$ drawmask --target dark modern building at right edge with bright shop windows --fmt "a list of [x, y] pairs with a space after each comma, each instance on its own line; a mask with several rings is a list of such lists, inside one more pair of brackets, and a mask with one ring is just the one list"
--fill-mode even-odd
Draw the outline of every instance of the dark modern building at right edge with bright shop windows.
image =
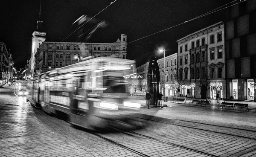
[[229, 7], [227, 18], [227, 98], [256, 102], [256, 1]]

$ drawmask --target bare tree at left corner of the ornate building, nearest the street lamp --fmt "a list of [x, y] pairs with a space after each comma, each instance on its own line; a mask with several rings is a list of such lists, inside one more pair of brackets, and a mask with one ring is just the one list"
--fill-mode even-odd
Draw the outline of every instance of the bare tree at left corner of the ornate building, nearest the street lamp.
[[[178, 98], [177, 91], [180, 89], [181, 85], [184, 83], [184, 75], [183, 70], [180, 70], [180, 73], [178, 73], [178, 70], [176, 67], [171, 67], [169, 70], [166, 70], [168, 73], [168, 82], [171, 83], [171, 87], [176, 90], [176, 98]], [[179, 76], [178, 76], [179, 75]]]

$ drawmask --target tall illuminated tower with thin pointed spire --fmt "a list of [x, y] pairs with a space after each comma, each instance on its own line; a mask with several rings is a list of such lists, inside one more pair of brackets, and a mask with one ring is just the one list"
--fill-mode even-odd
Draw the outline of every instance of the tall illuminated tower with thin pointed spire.
[[32, 51], [30, 58], [30, 72], [31, 76], [35, 75], [35, 53], [37, 49], [40, 47], [42, 42], [45, 41], [46, 32], [43, 32], [43, 21], [41, 20], [41, 0], [40, 0], [40, 11], [39, 11], [39, 19], [37, 21], [36, 31], [33, 32], [32, 37]]

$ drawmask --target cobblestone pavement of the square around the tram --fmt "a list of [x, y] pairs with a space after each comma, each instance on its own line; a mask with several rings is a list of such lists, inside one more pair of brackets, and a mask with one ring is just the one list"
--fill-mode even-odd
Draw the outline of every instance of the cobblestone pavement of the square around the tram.
[[[14, 95], [13, 87], [0, 89], [1, 157], [140, 156], [33, 108]], [[164, 102], [164, 108], [147, 109], [142, 97], [134, 99], [143, 105], [140, 113], [154, 116], [135, 132], [174, 145], [131, 133], [102, 136], [152, 157], [208, 156], [177, 145], [221, 157], [256, 156], [255, 110], [218, 109], [214, 101], [210, 107]]]

